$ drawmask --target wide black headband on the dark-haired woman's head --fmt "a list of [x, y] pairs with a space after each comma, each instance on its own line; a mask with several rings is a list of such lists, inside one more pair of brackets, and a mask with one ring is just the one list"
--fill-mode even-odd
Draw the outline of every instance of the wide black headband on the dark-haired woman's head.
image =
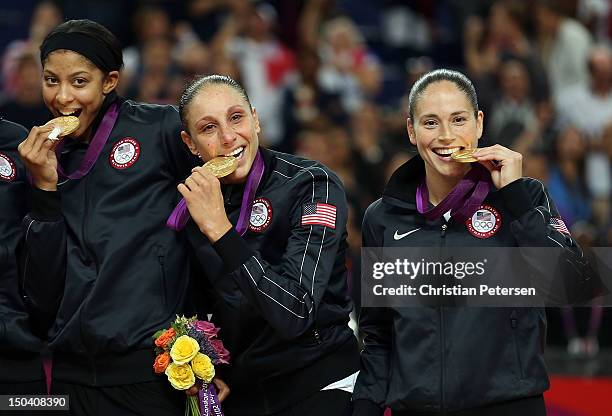
[[121, 61], [111, 53], [108, 45], [100, 39], [83, 33], [56, 33], [44, 40], [40, 45], [40, 61], [58, 49], [68, 49], [89, 59], [103, 72], [119, 71]]

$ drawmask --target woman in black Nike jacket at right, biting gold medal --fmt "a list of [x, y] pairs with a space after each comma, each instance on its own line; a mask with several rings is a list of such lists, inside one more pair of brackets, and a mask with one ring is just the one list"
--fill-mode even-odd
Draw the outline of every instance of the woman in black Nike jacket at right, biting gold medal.
[[[476, 253], [554, 247], [564, 282], [579, 287], [590, 280], [593, 271], [561, 227], [545, 187], [522, 177], [521, 155], [500, 145], [477, 148], [484, 114], [465, 75], [446, 69], [423, 75], [410, 91], [408, 112], [418, 155], [393, 173], [366, 211], [363, 247], [401, 248], [406, 255], [422, 247]], [[509, 259], [489, 258], [487, 271], [511, 270]], [[537, 260], [524, 260], [537, 268]], [[393, 416], [544, 416], [544, 325], [544, 310], [535, 307], [363, 305], [353, 415], [379, 416], [390, 407]]]

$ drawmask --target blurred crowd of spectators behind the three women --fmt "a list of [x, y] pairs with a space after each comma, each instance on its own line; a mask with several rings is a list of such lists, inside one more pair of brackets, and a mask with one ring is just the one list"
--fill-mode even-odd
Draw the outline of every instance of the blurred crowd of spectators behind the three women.
[[[0, 5], [0, 114], [27, 128], [49, 118], [38, 47], [67, 19], [95, 20], [120, 39], [126, 98], [177, 103], [196, 74], [239, 80], [265, 146], [319, 160], [343, 180], [357, 302], [362, 214], [415, 154], [407, 94], [438, 67], [473, 80], [485, 113], [480, 146], [521, 152], [524, 175], [546, 183], [580, 243], [612, 245], [609, 0], [10, 3]], [[549, 310], [549, 342], [595, 356], [612, 345], [609, 315]]]

